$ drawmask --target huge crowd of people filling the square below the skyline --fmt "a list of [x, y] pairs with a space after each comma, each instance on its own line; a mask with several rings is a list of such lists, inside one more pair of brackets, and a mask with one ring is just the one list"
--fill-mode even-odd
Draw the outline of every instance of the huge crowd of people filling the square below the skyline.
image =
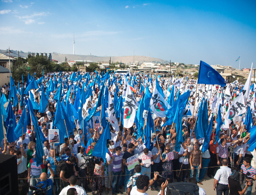
[[[12, 104], [16, 124], [19, 124], [24, 112], [30, 112], [26, 99], [33, 99], [34, 103], [41, 106], [42, 93], [44, 95], [46, 93], [49, 98], [44, 113], [40, 113], [38, 108], [33, 107], [32, 111], [36, 116], [37, 124], [34, 124], [32, 119], [27, 120], [27, 128], [23, 129], [23, 135], [11, 142], [5, 136], [1, 142], [3, 155], [16, 155], [17, 157], [20, 194], [28, 192], [31, 195], [36, 189], [28, 188], [28, 186], [38, 186], [38, 184], [42, 184], [42, 188], [47, 189], [47, 194], [56, 195], [87, 194], [88, 192], [102, 194], [103, 191], [105, 194], [112, 192], [112, 194], [134, 195], [147, 194], [148, 189], [154, 191], [155, 194], [165, 194], [167, 184], [173, 182], [197, 183], [200, 186], [199, 194], [206, 194], [205, 190], [201, 188], [206, 176], [215, 179], [213, 185], [217, 195], [222, 193], [226, 195], [229, 190], [230, 194], [237, 194], [239, 191], [239, 194], [246, 192], [249, 195], [252, 191], [252, 180], [256, 179], [256, 170], [251, 166], [251, 162], [255, 158], [247, 150], [251, 138], [248, 126], [245, 125], [247, 111], [242, 116], [229, 118], [230, 120], [224, 117], [225, 113], [229, 111], [232, 101], [238, 98], [240, 93], [243, 93], [244, 85], [235, 82], [221, 89], [218, 85], [209, 87], [209, 85], [197, 84], [196, 79], [158, 78], [156, 76], [150, 78], [141, 73], [120, 76], [113, 73], [100, 75], [98, 72], [82, 72], [76, 73], [75, 77], [73, 75], [74, 73], [48, 73], [44, 75], [40, 83], [37, 83], [38, 87], [31, 89], [30, 92], [32, 92], [33, 97], [31, 94], [29, 96], [19, 94], [24, 92], [25, 86], [29, 87], [26, 82], [3, 86], [3, 90], [1, 90], [1, 101], [5, 103], [3, 101], [6, 98], [6, 102]], [[108, 76], [106, 79], [99, 79], [106, 75]], [[125, 84], [126, 78], [127, 84]], [[28, 77], [27, 82], [30, 83], [33, 79]], [[50, 81], [54, 83], [53, 91], [49, 91]], [[139, 104], [144, 101], [146, 91], [150, 95], [154, 94], [157, 84], [160, 84], [164, 99], [168, 104], [178, 101], [182, 94], [189, 91], [189, 98], [185, 105], [194, 106], [194, 109], [191, 115], [179, 116], [181, 117], [181, 134], [175, 122], [167, 123], [168, 116], [161, 117], [154, 113], [153, 109], [150, 110], [151, 113], [148, 115], [151, 115], [153, 124], [151, 124], [150, 138], [147, 139], [145, 137], [146, 120], [142, 128], [138, 126], [137, 118], [131, 127], [124, 127], [126, 126], [123, 122], [126, 117], [125, 110], [118, 111], [118, 106], [115, 104], [119, 98], [126, 101], [123, 99], [123, 93], [126, 91], [126, 87], [129, 88], [130, 85], [134, 102]], [[89, 95], [91, 110], [88, 114], [90, 115], [93, 108], [99, 105], [100, 92], [104, 85], [106, 86], [105, 90], [110, 95], [108, 102], [111, 99], [114, 103], [115, 117], [118, 121], [118, 128], [114, 128], [111, 124], [107, 126], [111, 138], [108, 139], [108, 152], [105, 156], [93, 156], [94, 148], [97, 144], [102, 144], [100, 138], [105, 131], [101, 118], [98, 121], [92, 118], [93, 122], [84, 124], [82, 121], [84, 118], [79, 120], [79, 117], [74, 117], [74, 113], [67, 113], [69, 122], [74, 123], [75, 128], [67, 129], [67, 134], [64, 132], [65, 139], [62, 143], [57, 132], [55, 132], [53, 139], [49, 139], [49, 129], [57, 128], [55, 119], [58, 103], [62, 102], [63, 106], [67, 104], [74, 106], [79, 114], [78, 105], [82, 98], [80, 94], [90, 91], [92, 93]], [[73, 90], [72, 86], [74, 86]], [[60, 87], [62, 87], [60, 96], [56, 99]], [[250, 107], [247, 110], [252, 112], [252, 119], [254, 119], [254, 86], [250, 85], [249, 87], [250, 91], [246, 97], [246, 103], [249, 102]], [[15, 97], [10, 93], [12, 88], [16, 88], [18, 92], [17, 104], [14, 104]], [[9, 89], [9, 92], [6, 89]], [[8, 95], [9, 93], [12, 96]], [[172, 97], [172, 93], [174, 93], [174, 97]], [[227, 99], [225, 94], [230, 94], [230, 98]], [[204, 98], [208, 100], [204, 100]], [[210, 133], [207, 136], [205, 132], [204, 136], [200, 137], [197, 123], [201, 112], [200, 104], [203, 101], [206, 101], [208, 107], [206, 120], [207, 127], [210, 127]], [[219, 104], [220, 108], [218, 109]], [[111, 110], [110, 106], [109, 103], [108, 110], [103, 110], [103, 112], [108, 114]], [[148, 108], [146, 109], [148, 110]], [[161, 107], [158, 106], [157, 109], [161, 110]], [[186, 106], [183, 110], [187, 112], [189, 109]], [[101, 117], [103, 115], [101, 106], [97, 107], [97, 111], [100, 111]], [[224, 121], [219, 130], [217, 115], [222, 117], [221, 121]], [[108, 115], [105, 116], [106, 119], [110, 120]], [[175, 118], [175, 116], [170, 118]], [[210, 123], [211, 118], [214, 123]], [[41, 137], [42, 143], [36, 139], [38, 133], [36, 132], [36, 125], [43, 135]], [[8, 131], [11, 131], [5, 122], [4, 126]], [[179, 135], [182, 137], [180, 138]], [[59, 140], [59, 144], [53, 144], [56, 140]], [[208, 140], [208, 145], [205, 146], [206, 140]], [[40, 143], [44, 153], [40, 157], [41, 162], [38, 162], [37, 147]], [[131, 169], [127, 159], [135, 155], [138, 162]], [[233, 182], [237, 180], [232, 177], [231, 168], [243, 173], [243, 181], [239, 185], [235, 185]]]

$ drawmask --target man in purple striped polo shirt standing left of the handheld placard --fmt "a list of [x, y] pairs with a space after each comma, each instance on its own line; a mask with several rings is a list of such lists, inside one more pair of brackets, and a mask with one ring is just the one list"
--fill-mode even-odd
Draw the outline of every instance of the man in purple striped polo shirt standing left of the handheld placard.
[[120, 146], [116, 147], [116, 153], [113, 155], [113, 183], [112, 183], [112, 194], [122, 193], [119, 191], [119, 180], [122, 175], [123, 163], [122, 158], [123, 154], [121, 153], [122, 148]]

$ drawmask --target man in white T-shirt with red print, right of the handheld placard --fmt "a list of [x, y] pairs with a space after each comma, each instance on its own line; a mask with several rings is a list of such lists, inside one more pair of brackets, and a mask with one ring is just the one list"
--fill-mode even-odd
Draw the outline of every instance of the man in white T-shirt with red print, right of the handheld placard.
[[150, 178], [151, 165], [154, 164], [152, 151], [148, 151], [147, 148], [144, 148], [143, 153], [139, 155], [139, 162], [141, 165], [141, 174], [145, 174]]

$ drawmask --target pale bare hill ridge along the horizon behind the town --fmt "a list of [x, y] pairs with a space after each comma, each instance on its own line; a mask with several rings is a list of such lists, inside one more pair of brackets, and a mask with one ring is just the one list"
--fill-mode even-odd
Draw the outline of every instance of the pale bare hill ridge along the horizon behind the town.
[[[7, 50], [0, 50], [1, 53], [6, 52]], [[18, 57], [18, 51], [13, 51], [14, 53], [11, 53], [11, 56]], [[36, 53], [36, 52], [34, 52]], [[38, 52], [39, 53], [39, 52]], [[9, 55], [9, 54], [5, 54]], [[19, 52], [19, 56], [27, 57], [28, 52]], [[59, 62], [65, 61], [65, 58], [67, 57], [67, 61], [73, 61], [73, 60], [91, 60], [95, 62], [109, 62], [110, 56], [101, 57], [101, 56], [94, 56], [94, 55], [72, 55], [72, 54], [58, 54], [53, 52], [52, 53], [52, 59], [58, 60]], [[133, 60], [134, 58], [134, 60]], [[155, 63], [168, 63], [168, 61], [160, 59], [160, 58], [154, 58], [154, 57], [147, 57], [147, 56], [111, 56], [111, 61], [113, 62], [120, 62], [122, 63], [130, 63], [130, 62], [155, 62]]]

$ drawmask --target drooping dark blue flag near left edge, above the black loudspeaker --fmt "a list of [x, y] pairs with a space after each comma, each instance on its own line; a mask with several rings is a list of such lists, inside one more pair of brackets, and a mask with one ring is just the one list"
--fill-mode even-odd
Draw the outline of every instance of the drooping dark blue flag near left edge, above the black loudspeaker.
[[[12, 110], [12, 104], [11, 101], [9, 101], [8, 106], [7, 106], [7, 118], [5, 120], [6, 126], [7, 126], [7, 140], [9, 143], [14, 142], [17, 137], [14, 134], [14, 129], [16, 127], [16, 120], [15, 120], [15, 115]], [[27, 129], [26, 129], [27, 130]]]

